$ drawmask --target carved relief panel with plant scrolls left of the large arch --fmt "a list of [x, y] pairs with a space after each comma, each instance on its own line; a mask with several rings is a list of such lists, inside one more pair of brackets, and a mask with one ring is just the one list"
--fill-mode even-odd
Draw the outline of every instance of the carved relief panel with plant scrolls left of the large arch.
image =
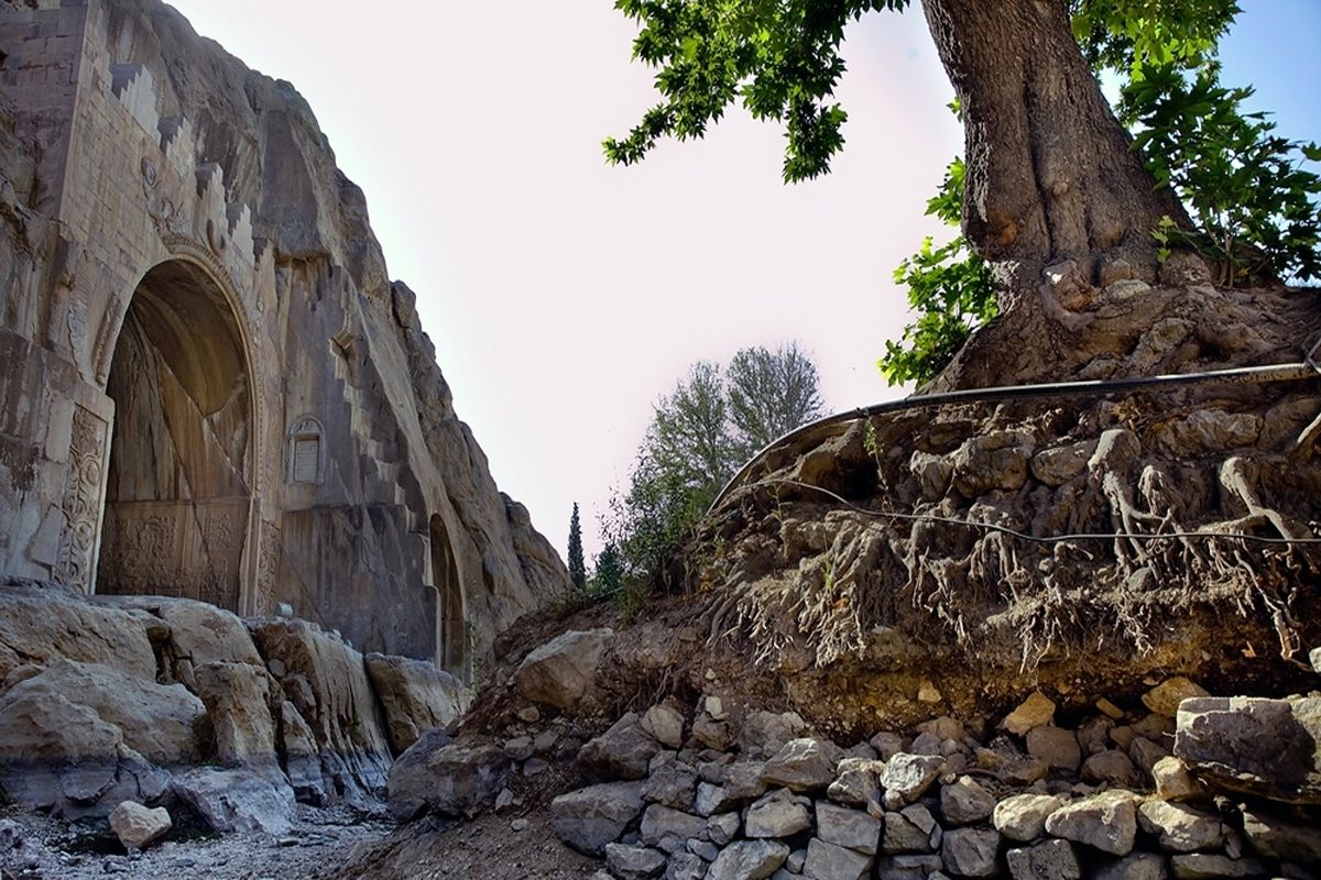
[[69, 472], [59, 505], [65, 528], [59, 537], [55, 581], [82, 592], [91, 592], [92, 587], [107, 429], [108, 425], [95, 413], [74, 406]]

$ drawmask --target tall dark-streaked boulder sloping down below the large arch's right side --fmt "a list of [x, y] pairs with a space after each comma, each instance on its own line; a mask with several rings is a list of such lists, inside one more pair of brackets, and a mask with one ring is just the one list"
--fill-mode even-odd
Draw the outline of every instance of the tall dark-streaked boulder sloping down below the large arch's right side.
[[362, 654], [304, 620], [250, 620], [284, 698], [306, 722], [333, 790], [349, 800], [386, 788], [391, 752]]

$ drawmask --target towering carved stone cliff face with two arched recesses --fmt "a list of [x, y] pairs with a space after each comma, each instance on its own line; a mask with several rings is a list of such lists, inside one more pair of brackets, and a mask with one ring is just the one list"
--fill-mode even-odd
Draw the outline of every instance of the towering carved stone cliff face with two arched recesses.
[[306, 103], [156, 0], [0, 0], [0, 574], [466, 670], [567, 582]]

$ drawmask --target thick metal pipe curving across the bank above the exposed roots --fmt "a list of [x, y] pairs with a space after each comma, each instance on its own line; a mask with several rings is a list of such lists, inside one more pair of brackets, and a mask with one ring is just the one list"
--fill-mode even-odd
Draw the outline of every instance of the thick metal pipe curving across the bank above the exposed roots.
[[966, 388], [962, 391], [947, 391], [938, 392], [934, 394], [915, 394], [911, 397], [905, 397], [902, 400], [890, 400], [882, 404], [872, 404], [871, 406], [860, 406], [857, 409], [845, 410], [843, 413], [835, 413], [834, 416], [827, 416], [826, 418], [819, 418], [814, 422], [808, 422], [794, 430], [789, 431], [783, 437], [771, 441], [760, 453], [753, 455], [748, 462], [738, 468], [724, 484], [720, 492], [716, 495], [716, 500], [711, 503], [707, 508], [707, 515], [709, 516], [725, 497], [744, 480], [748, 474], [757, 466], [757, 463], [773, 449], [786, 443], [802, 434], [808, 431], [819, 430], [822, 427], [830, 427], [838, 424], [859, 421], [863, 418], [871, 418], [873, 416], [882, 416], [889, 413], [900, 413], [909, 409], [919, 409], [923, 406], [945, 406], [950, 404], [976, 404], [1000, 400], [1021, 400], [1030, 397], [1107, 397], [1114, 393], [1127, 392], [1127, 391], [1148, 391], [1148, 389], [1164, 389], [1164, 388], [1178, 388], [1184, 385], [1203, 385], [1203, 384], [1234, 384], [1234, 385], [1256, 385], [1266, 383], [1284, 383], [1284, 381], [1305, 381], [1308, 379], [1317, 379], [1318, 368], [1313, 356], [1321, 348], [1321, 339], [1317, 344], [1312, 347], [1310, 351], [1305, 354], [1305, 359], [1299, 363], [1292, 364], [1267, 364], [1264, 367], [1236, 367], [1232, 369], [1214, 369], [1203, 373], [1174, 373], [1166, 376], [1143, 376], [1137, 379], [1098, 379], [1087, 381], [1066, 381], [1066, 383], [1041, 383], [1036, 385], [997, 385], [993, 388]]

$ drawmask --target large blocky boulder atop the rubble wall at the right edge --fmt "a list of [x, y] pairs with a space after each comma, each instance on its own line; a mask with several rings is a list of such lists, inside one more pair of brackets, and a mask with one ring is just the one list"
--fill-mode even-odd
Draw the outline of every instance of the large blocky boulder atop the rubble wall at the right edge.
[[1203, 697], [1180, 705], [1174, 755], [1203, 781], [1321, 803], [1321, 697]]

